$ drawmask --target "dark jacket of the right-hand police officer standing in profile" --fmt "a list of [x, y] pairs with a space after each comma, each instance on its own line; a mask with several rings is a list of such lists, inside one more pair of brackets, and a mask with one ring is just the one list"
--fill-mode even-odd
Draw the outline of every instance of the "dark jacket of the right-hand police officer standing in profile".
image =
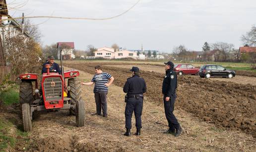
[[172, 69], [166, 71], [166, 76], [163, 80], [162, 93], [166, 97], [171, 97], [176, 94], [177, 74]]

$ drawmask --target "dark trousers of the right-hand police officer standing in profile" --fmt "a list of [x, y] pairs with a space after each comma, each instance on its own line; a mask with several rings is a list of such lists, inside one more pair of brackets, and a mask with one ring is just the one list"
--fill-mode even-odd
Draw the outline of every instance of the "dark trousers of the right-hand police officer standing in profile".
[[180, 124], [173, 114], [176, 96], [170, 97], [169, 101], [166, 101], [165, 98], [166, 96], [164, 95], [164, 111], [168, 121], [168, 126], [173, 131], [175, 131], [175, 129], [178, 130], [180, 128]]

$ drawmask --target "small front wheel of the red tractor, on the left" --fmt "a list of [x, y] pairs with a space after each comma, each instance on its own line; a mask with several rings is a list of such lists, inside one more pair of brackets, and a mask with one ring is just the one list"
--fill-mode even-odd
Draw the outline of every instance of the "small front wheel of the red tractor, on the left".
[[22, 104], [22, 121], [25, 132], [32, 131], [32, 121], [30, 117], [30, 105], [29, 103]]

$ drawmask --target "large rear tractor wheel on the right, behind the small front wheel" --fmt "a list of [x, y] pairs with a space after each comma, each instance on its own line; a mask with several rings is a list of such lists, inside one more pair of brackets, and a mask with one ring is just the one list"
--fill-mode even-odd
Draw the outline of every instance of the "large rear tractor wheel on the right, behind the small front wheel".
[[[68, 97], [72, 98], [75, 101], [82, 100], [81, 97], [81, 84], [78, 78], [70, 78], [67, 80], [67, 85], [70, 86], [71, 90], [68, 92]], [[70, 115], [75, 115], [75, 109], [69, 109]]]

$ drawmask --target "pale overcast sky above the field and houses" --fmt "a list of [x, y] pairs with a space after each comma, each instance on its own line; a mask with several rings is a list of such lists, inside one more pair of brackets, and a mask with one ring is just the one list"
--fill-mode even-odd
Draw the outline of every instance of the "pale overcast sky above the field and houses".
[[[12, 16], [104, 18], [128, 10], [137, 0], [6, 0]], [[241, 36], [256, 25], [256, 0], [140, 0], [126, 14], [110, 20], [32, 18], [42, 44], [74, 42], [75, 49], [119, 47], [171, 52], [179, 45], [201, 51], [204, 42], [243, 46]], [[46, 21], [46, 22], [45, 22]], [[41, 24], [42, 23], [42, 24]]]

